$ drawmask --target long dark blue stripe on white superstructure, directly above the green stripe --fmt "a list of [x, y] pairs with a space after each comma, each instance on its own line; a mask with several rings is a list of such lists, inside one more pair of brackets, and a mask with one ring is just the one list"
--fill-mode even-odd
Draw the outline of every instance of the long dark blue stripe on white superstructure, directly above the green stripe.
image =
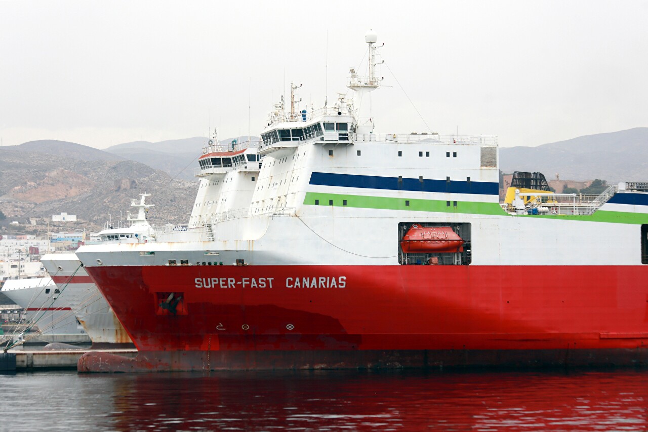
[[465, 180], [428, 180], [418, 178], [362, 176], [356, 174], [312, 173], [310, 184], [319, 186], [362, 187], [364, 189], [384, 189], [389, 191], [421, 191], [472, 193], [475, 195], [498, 195], [499, 185], [494, 182], [467, 182]]

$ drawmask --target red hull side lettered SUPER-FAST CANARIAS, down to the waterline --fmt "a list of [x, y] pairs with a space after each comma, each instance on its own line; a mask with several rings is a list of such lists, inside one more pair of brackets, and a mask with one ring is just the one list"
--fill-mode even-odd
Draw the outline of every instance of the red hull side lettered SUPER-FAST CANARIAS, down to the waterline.
[[144, 369], [636, 364], [648, 344], [646, 266], [86, 270]]

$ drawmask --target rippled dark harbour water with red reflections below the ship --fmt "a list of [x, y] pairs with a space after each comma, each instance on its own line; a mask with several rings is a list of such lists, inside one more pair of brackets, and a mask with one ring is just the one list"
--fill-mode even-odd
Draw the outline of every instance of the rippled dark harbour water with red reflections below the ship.
[[0, 375], [3, 431], [646, 431], [648, 371]]

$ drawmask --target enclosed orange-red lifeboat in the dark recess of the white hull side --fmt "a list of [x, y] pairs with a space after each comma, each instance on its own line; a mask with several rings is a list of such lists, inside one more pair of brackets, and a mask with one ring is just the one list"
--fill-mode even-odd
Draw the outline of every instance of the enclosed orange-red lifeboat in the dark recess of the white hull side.
[[411, 252], [463, 252], [463, 240], [449, 226], [413, 224], [400, 241], [406, 254]]

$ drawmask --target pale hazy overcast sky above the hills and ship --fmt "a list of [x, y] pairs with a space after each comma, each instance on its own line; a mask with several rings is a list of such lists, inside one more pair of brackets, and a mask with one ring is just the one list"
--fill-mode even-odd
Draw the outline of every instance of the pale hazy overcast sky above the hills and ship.
[[[647, 1], [0, 1], [0, 137], [258, 135], [284, 73], [323, 105], [327, 32], [347, 91], [371, 28], [433, 132], [539, 145], [648, 126], [647, 26]], [[389, 69], [376, 132], [426, 130]]]

